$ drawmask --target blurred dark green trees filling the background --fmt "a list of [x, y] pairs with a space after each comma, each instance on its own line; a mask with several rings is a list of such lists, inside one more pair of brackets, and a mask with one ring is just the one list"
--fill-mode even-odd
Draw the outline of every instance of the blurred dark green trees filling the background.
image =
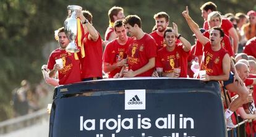
[[[42, 76], [40, 67], [46, 64], [43, 48], [54, 41], [54, 30], [62, 27], [67, 17], [66, 7], [80, 5], [93, 14], [93, 25], [104, 38], [108, 27], [108, 10], [112, 6], [124, 7], [126, 15], [137, 14], [142, 19], [143, 30], [150, 33], [155, 25], [153, 15], [165, 11], [176, 22], [179, 32], [192, 42], [192, 32], [183, 19], [181, 12], [189, 6], [190, 15], [202, 27], [203, 19], [199, 7], [207, 1], [189, 0], [99, 0], [99, 1], [36, 1], [1, 0], [0, 1], [0, 121], [10, 118], [12, 109], [12, 89], [17, 88], [23, 79], [38, 83]], [[228, 12], [247, 12], [256, 9], [256, 0], [213, 1], [222, 14]], [[171, 23], [170, 23], [171, 24]]]

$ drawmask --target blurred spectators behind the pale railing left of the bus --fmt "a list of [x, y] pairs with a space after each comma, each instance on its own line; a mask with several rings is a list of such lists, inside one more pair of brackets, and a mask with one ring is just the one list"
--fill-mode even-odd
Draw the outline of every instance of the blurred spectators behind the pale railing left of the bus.
[[12, 91], [13, 117], [45, 109], [53, 100], [52, 91], [53, 87], [47, 85], [44, 80], [37, 85], [31, 85], [28, 80], [22, 80], [20, 88], [15, 88]]

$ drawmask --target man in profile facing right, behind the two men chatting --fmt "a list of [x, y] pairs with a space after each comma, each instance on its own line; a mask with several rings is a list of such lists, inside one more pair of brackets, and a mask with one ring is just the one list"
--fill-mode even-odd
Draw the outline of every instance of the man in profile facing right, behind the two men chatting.
[[105, 32], [105, 41], [111, 41], [117, 38], [117, 35], [114, 32], [114, 22], [116, 22], [116, 20], [124, 19], [125, 17], [124, 9], [122, 9], [122, 7], [116, 7], [116, 6], [111, 7], [111, 9], [108, 10], [108, 17], [109, 17], [109, 27]]

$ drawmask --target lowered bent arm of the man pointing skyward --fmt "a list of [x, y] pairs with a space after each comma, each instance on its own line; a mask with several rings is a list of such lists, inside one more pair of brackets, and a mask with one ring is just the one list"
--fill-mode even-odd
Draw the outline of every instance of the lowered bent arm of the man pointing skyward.
[[230, 57], [228, 54], [226, 54], [223, 57], [222, 70], [223, 70], [223, 75], [209, 76], [209, 80], [216, 80], [216, 81], [228, 80], [229, 72], [230, 72]]

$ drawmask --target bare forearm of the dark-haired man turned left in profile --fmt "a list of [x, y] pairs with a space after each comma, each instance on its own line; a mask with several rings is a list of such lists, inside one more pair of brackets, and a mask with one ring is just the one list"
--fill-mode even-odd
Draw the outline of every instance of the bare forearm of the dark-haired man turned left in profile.
[[147, 72], [153, 67], [155, 67], [155, 57], [149, 59], [148, 63], [144, 65], [142, 68], [139, 68], [138, 70], [129, 70], [128, 72], [124, 71], [124, 77], [135, 77], [143, 72]]

